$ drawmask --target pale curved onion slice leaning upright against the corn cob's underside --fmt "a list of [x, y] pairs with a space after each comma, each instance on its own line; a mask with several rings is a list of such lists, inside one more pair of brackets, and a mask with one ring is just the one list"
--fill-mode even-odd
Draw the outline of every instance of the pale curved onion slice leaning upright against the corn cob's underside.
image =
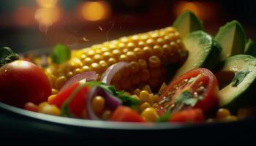
[[116, 72], [118, 72], [120, 69], [123, 69], [128, 64], [128, 62], [121, 61], [109, 66], [108, 69], [102, 74], [100, 81], [110, 85], [110, 82], [116, 74]]

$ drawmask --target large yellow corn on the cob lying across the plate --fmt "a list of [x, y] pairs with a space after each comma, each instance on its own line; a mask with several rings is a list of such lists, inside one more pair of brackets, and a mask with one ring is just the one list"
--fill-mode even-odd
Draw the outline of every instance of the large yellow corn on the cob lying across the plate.
[[180, 34], [175, 28], [167, 27], [72, 50], [71, 57], [64, 64], [51, 64], [46, 69], [53, 89], [59, 90], [70, 77], [81, 72], [95, 71], [100, 78], [108, 66], [118, 61], [129, 62], [111, 82], [118, 90], [146, 84], [154, 88], [165, 80], [165, 65], [184, 61], [187, 52]]

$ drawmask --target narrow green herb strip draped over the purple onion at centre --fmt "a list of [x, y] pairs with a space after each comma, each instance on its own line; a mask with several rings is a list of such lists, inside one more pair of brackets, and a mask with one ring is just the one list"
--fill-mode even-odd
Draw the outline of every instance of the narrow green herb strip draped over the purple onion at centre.
[[124, 91], [116, 91], [116, 88], [113, 85], [107, 85], [104, 82], [86, 82], [86, 85], [89, 86], [99, 86], [103, 88], [105, 91], [112, 93], [114, 96], [118, 97], [123, 101], [123, 105], [135, 108], [138, 106], [140, 101], [138, 99], [133, 98], [132, 96], [127, 96], [124, 94]]

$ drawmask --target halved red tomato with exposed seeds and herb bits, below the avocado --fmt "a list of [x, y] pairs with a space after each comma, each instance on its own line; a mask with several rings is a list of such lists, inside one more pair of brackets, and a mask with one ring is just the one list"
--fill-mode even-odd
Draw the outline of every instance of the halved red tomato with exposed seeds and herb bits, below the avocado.
[[156, 110], [178, 112], [199, 108], [206, 112], [217, 105], [219, 86], [217, 78], [208, 69], [193, 69], [170, 82], [159, 97]]

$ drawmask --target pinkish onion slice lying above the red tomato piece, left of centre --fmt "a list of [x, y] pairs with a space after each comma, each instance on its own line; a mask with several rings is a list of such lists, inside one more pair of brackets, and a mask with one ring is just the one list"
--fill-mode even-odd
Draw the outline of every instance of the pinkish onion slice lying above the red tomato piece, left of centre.
[[71, 77], [67, 82], [65, 82], [59, 91], [63, 91], [65, 88], [73, 85], [75, 82], [79, 82], [80, 80], [86, 80], [86, 82], [89, 82], [96, 79], [96, 72], [83, 72], [81, 74], [76, 74], [74, 77]]

